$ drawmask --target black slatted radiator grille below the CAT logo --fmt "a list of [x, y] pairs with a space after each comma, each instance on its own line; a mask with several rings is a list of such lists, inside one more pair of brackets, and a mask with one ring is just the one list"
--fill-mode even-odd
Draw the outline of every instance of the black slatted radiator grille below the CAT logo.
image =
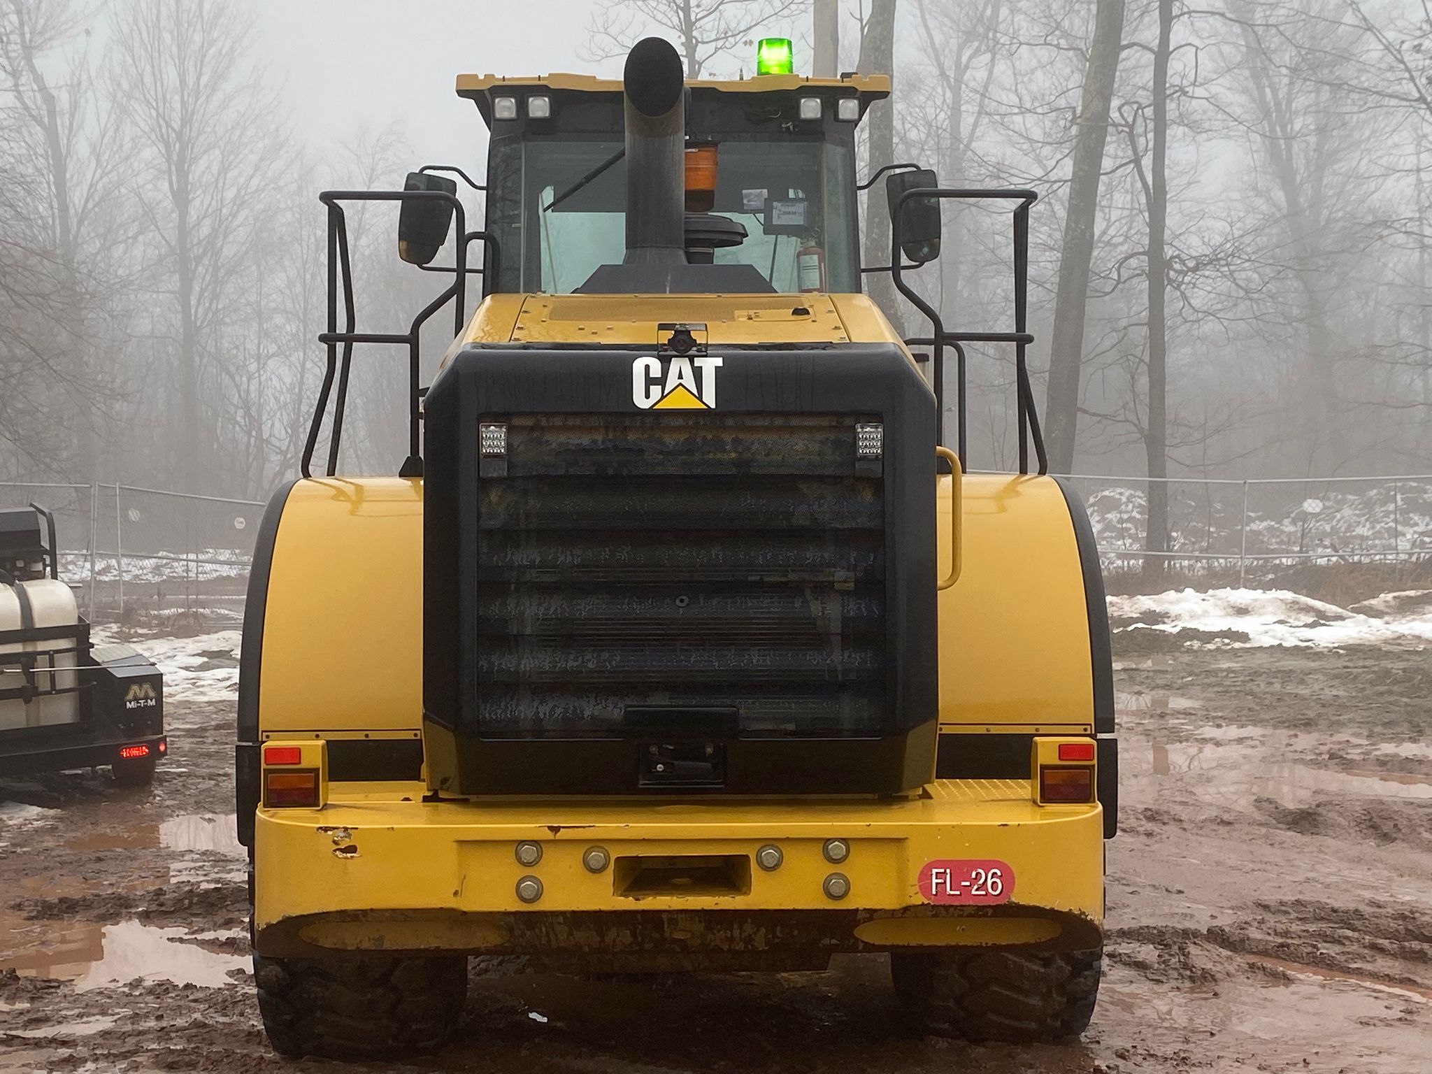
[[[484, 415], [478, 719], [610, 735], [633, 706], [879, 733], [885, 505], [859, 415]], [[475, 437], [475, 430], [474, 430]]]

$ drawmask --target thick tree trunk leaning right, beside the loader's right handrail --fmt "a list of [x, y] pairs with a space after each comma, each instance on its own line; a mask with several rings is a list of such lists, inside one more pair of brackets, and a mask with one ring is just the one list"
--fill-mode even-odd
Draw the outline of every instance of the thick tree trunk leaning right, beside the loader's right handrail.
[[1054, 473], [1068, 473], [1074, 467], [1080, 367], [1084, 362], [1084, 314], [1088, 305], [1090, 263], [1094, 258], [1098, 182], [1104, 166], [1108, 107], [1114, 97], [1114, 76], [1118, 73], [1123, 36], [1124, 0], [1098, 0], [1088, 67], [1084, 72], [1078, 130], [1074, 135], [1074, 163], [1068, 209], [1064, 216], [1064, 243], [1060, 251], [1054, 331], [1050, 341], [1044, 441]]

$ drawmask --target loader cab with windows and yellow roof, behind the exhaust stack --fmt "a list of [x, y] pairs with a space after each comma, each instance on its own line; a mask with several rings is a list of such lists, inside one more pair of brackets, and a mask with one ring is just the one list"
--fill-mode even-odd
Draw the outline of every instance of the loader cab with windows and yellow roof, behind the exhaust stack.
[[[604, 289], [593, 274], [624, 249], [621, 86], [571, 74], [458, 79], [491, 132], [487, 232], [501, 259], [488, 294]], [[861, 76], [689, 82], [689, 261], [750, 266], [740, 276], [749, 291], [858, 292], [855, 130], [888, 87]]]

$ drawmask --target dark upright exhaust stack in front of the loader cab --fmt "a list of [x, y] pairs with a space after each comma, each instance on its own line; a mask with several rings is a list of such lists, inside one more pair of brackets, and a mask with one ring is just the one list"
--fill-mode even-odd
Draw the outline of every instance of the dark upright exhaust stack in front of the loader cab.
[[644, 37], [623, 77], [626, 265], [686, 263], [686, 80], [669, 42]]

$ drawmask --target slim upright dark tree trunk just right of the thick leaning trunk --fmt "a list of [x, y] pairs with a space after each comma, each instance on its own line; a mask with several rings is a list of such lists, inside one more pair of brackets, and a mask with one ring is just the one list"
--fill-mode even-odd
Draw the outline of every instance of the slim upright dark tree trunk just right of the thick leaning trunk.
[[[1154, 49], [1153, 152], [1148, 166], [1148, 530], [1144, 548], [1169, 551], [1169, 268], [1164, 238], [1169, 223], [1169, 49], [1173, 34], [1173, 0], [1158, 0], [1158, 46]], [[1163, 574], [1167, 558], [1144, 557], [1144, 574]]]

